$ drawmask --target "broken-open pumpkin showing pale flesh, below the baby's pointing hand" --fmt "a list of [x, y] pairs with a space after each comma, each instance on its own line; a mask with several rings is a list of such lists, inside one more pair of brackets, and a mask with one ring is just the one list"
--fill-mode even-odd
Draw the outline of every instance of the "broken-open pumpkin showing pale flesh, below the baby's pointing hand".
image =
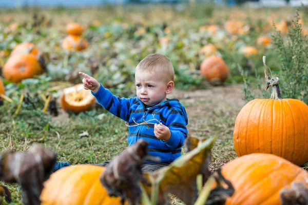
[[63, 90], [60, 105], [63, 110], [78, 114], [88, 111], [95, 103], [95, 97], [90, 90], [85, 90], [83, 84], [78, 84]]

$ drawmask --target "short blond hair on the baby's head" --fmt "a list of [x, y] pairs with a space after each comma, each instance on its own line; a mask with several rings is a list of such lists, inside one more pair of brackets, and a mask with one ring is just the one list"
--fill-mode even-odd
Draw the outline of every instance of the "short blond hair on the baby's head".
[[165, 74], [167, 81], [173, 81], [175, 78], [175, 70], [171, 60], [159, 53], [150, 54], [143, 58], [137, 65], [137, 69], [162, 72]]

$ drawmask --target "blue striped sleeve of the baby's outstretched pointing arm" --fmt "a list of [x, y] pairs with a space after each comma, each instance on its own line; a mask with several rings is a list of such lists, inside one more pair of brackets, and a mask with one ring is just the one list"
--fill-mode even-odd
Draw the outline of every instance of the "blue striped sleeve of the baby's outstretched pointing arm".
[[93, 93], [98, 103], [103, 106], [107, 111], [121, 119], [128, 121], [130, 115], [130, 105], [136, 100], [135, 98], [120, 98], [113, 95], [108, 89], [104, 88], [101, 84], [98, 92]]

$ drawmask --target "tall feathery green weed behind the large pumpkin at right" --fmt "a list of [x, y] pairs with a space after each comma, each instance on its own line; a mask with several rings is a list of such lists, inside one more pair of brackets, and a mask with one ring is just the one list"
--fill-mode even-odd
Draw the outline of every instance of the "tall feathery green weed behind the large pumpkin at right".
[[301, 33], [298, 10], [295, 18], [292, 21], [294, 26], [290, 27], [286, 37], [279, 31], [272, 36], [282, 63], [278, 76], [279, 85], [283, 98], [296, 98], [308, 104], [308, 42]]

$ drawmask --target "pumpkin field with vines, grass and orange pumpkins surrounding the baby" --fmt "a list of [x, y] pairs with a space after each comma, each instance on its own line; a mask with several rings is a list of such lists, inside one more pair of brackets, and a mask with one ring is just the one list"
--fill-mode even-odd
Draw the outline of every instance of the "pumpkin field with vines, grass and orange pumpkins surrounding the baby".
[[[308, 204], [307, 34], [305, 6], [0, 8], [0, 204]], [[128, 147], [79, 72], [134, 97], [152, 53], [174, 66], [188, 137], [141, 173], [147, 142]]]

